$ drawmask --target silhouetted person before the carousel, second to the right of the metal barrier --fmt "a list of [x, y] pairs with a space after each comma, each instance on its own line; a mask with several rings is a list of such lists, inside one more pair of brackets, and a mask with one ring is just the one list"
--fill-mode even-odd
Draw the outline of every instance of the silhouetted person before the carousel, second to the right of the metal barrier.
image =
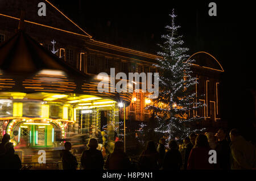
[[97, 150], [98, 141], [90, 138], [88, 150], [82, 152], [81, 164], [84, 170], [103, 170], [104, 159], [100, 150]]

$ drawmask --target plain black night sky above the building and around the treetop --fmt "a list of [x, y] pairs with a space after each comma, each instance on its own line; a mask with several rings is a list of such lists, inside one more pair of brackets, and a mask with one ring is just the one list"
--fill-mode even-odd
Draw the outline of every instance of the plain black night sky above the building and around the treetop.
[[[51, 2], [94, 39], [154, 54], [158, 51], [156, 44], [162, 42], [164, 27], [171, 23], [168, 14], [174, 8], [189, 54], [208, 52], [225, 70], [222, 117], [230, 127], [242, 127], [243, 132], [251, 128], [249, 120], [255, 116], [250, 93], [255, 90], [255, 15], [250, 1]], [[209, 2], [217, 3], [217, 16], [208, 15]]]

